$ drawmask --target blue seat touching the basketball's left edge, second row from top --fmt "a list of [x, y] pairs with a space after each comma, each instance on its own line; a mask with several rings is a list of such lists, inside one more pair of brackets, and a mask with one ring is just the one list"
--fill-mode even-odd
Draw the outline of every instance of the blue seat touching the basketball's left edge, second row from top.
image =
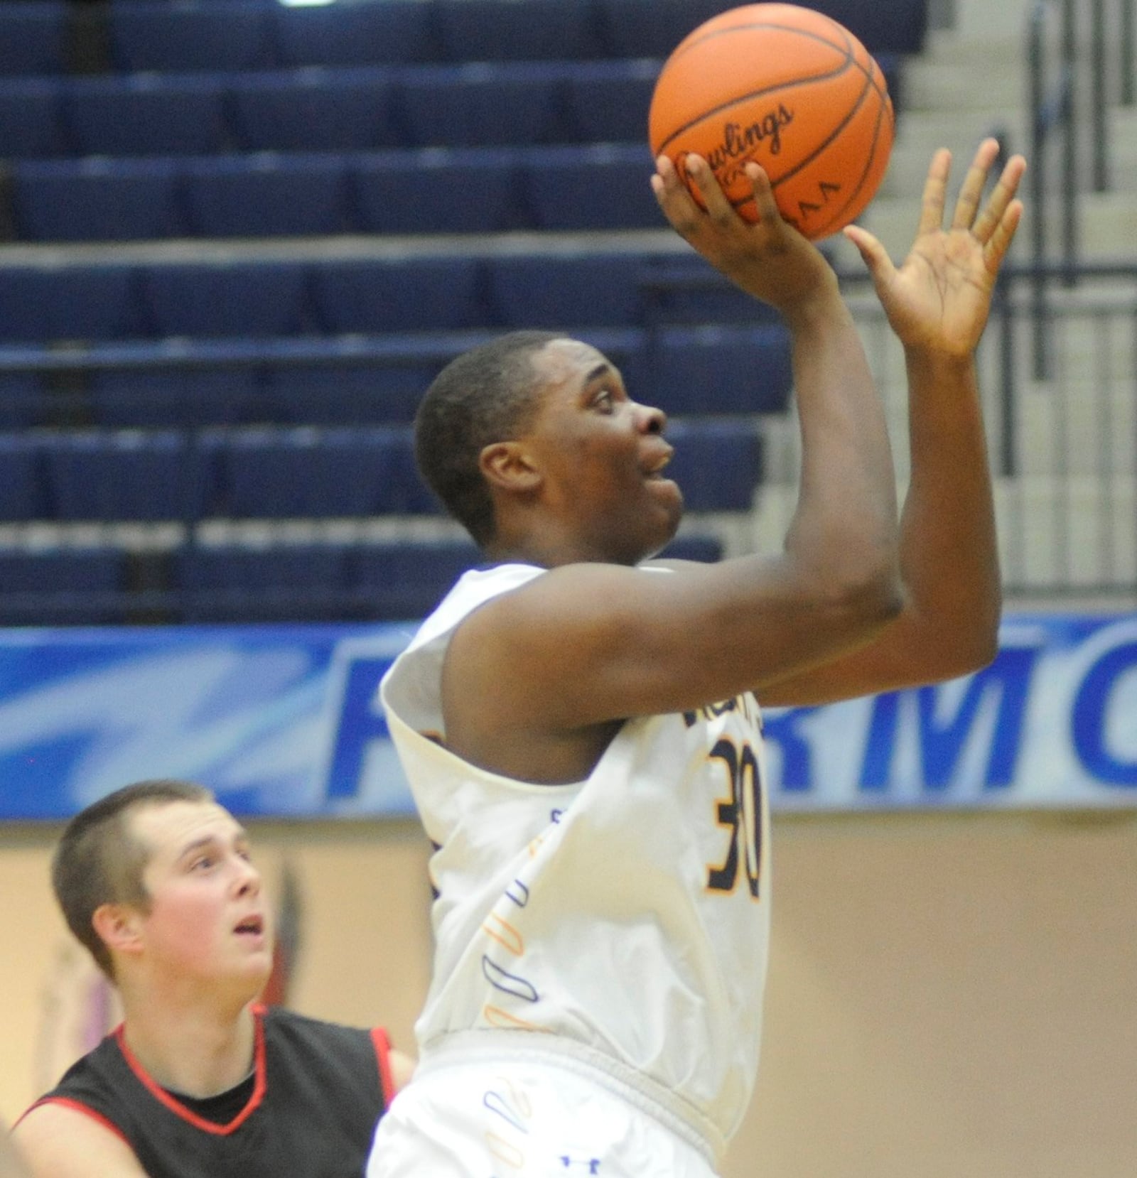
[[567, 120], [580, 143], [647, 140], [648, 107], [661, 62], [581, 61], [567, 78]]

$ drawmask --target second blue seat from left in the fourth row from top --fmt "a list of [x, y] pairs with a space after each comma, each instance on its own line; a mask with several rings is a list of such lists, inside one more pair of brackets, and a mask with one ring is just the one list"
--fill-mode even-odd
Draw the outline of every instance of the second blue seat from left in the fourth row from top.
[[141, 267], [158, 336], [293, 336], [310, 330], [300, 262], [172, 263]]

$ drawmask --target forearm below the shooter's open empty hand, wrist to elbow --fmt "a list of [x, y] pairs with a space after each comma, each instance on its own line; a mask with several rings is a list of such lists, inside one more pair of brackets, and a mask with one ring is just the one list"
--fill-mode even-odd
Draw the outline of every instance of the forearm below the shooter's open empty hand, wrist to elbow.
[[938, 677], [990, 662], [1002, 588], [973, 358], [907, 356], [912, 476], [901, 517], [908, 608]]

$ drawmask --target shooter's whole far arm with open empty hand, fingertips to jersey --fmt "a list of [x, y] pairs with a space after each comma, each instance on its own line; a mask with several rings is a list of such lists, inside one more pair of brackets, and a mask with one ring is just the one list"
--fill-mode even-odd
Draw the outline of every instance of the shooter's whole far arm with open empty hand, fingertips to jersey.
[[905, 349], [912, 476], [900, 535], [904, 609], [864, 649], [768, 684], [763, 702], [824, 703], [937, 682], [977, 670], [998, 649], [1002, 589], [976, 348], [1022, 214], [1013, 198], [1025, 163], [1011, 159], [980, 207], [997, 147], [980, 145], [943, 229], [950, 157], [936, 154], [915, 244], [899, 270], [875, 238], [848, 231]]

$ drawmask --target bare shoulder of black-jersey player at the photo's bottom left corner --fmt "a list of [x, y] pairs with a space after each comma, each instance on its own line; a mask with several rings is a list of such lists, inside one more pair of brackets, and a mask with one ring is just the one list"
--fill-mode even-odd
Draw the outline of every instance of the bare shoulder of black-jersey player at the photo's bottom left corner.
[[107, 1123], [53, 1100], [25, 1113], [12, 1139], [33, 1178], [146, 1178]]

